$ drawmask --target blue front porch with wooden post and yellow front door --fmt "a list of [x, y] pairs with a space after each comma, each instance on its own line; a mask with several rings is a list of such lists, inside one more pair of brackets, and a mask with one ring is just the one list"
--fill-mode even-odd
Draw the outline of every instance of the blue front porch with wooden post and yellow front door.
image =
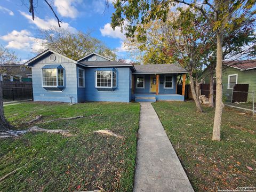
[[[138, 102], [184, 101], [185, 81], [184, 73], [133, 74], [132, 100]], [[177, 94], [178, 84], [182, 84], [182, 94]]]

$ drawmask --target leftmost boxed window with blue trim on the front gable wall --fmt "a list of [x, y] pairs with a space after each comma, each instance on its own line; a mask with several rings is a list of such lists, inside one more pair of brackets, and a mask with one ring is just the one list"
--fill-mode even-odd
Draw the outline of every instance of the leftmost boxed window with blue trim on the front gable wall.
[[49, 91], [61, 91], [65, 85], [64, 68], [59, 65], [45, 65], [42, 68], [43, 87]]

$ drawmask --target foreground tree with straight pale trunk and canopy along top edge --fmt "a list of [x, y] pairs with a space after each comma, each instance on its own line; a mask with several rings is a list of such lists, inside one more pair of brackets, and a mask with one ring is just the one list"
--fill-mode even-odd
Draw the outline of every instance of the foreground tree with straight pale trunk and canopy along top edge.
[[[116, 9], [111, 18], [111, 26], [124, 27], [126, 36], [132, 37], [136, 30], [145, 33], [143, 24], [151, 20], [166, 21], [167, 13], [171, 7], [177, 4], [185, 4], [193, 7], [205, 17], [209, 26], [216, 33], [216, 68], [215, 74], [217, 79], [216, 89], [216, 107], [213, 125], [212, 140], [220, 141], [220, 126], [222, 109], [222, 60], [223, 60], [223, 35], [228, 30], [232, 29], [236, 23], [242, 22], [246, 18], [254, 17], [255, 1], [247, 0], [214, 0], [214, 1], [196, 1], [196, 0], [141, 0], [141, 1], [126, 1], [117, 0], [114, 2]], [[124, 26], [125, 24], [125, 26]], [[142, 27], [141, 27], [142, 24]]]

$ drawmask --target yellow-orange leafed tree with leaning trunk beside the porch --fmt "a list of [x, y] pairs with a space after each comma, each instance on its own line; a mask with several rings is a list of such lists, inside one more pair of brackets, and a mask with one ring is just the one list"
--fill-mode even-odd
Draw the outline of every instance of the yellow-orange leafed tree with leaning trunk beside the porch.
[[143, 27], [146, 33], [142, 35], [135, 31], [134, 37], [127, 38], [125, 45], [133, 53], [141, 53], [138, 59], [144, 64], [177, 63], [187, 69], [196, 109], [202, 112], [199, 84], [203, 83], [201, 74], [209, 63], [207, 59], [214, 39], [205, 18], [193, 9], [179, 9], [169, 12], [165, 22], [150, 21]]

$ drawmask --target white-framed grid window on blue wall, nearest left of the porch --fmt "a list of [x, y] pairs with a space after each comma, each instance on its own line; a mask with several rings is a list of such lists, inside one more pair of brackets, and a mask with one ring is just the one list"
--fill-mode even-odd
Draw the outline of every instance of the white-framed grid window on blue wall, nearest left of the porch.
[[112, 88], [116, 87], [116, 71], [96, 71], [96, 87]]

